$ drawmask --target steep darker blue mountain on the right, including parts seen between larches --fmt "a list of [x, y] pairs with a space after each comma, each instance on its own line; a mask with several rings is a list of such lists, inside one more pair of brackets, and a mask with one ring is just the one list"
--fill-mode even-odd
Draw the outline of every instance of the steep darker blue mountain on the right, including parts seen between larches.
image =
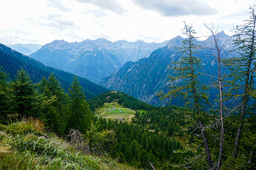
[[[219, 33], [216, 36], [224, 36], [224, 32]], [[226, 38], [230, 39], [228, 35]], [[199, 44], [205, 44], [209, 42], [211, 37], [205, 41], [197, 41]], [[137, 62], [127, 62], [122, 68], [115, 71], [113, 74], [102, 79], [98, 84], [109, 88], [110, 90], [122, 91], [129, 94], [139, 100], [145, 101], [149, 104], [156, 106], [168, 105], [168, 100], [160, 101], [156, 92], [163, 90], [168, 91], [168, 86], [171, 82], [168, 82], [167, 76], [172, 75], [171, 69], [168, 69], [168, 65], [171, 61], [177, 61], [181, 57], [178, 49], [182, 45], [184, 39], [181, 36], [177, 36], [166, 43], [166, 46], [154, 50], [148, 58], [139, 59]], [[232, 42], [229, 42], [226, 46], [226, 50], [229, 50], [229, 46]], [[209, 43], [207, 45], [210, 45]], [[210, 78], [208, 75], [217, 74], [217, 65], [214, 63], [213, 51], [210, 49], [200, 49], [199, 57], [204, 63], [203, 71], [205, 76], [201, 79], [202, 83], [209, 84]], [[232, 53], [229, 53], [230, 57]], [[176, 82], [177, 83], [177, 82]], [[211, 96], [214, 97], [216, 92], [211, 91]], [[183, 106], [184, 101], [177, 98], [172, 100], [170, 104]]]

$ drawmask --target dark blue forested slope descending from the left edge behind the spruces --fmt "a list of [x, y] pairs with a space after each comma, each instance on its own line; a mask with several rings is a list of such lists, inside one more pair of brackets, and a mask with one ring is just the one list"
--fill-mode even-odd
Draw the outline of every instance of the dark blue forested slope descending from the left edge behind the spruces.
[[[0, 44], [0, 66], [3, 66], [3, 70], [9, 74], [10, 79], [14, 79], [17, 70], [20, 70], [20, 67], [23, 67], [23, 69], [30, 74], [30, 78], [34, 83], [38, 83], [44, 76], [48, 78], [48, 76], [53, 73], [56, 78], [59, 79], [61, 87], [63, 87], [65, 91], [68, 91], [74, 76], [73, 74], [62, 70], [47, 67], [42, 63], [35, 61], [35, 59], [24, 56], [3, 44]], [[85, 91], [87, 99], [107, 91], [106, 88], [90, 82], [85, 78], [78, 77], [78, 79], [80, 81], [80, 85]]]

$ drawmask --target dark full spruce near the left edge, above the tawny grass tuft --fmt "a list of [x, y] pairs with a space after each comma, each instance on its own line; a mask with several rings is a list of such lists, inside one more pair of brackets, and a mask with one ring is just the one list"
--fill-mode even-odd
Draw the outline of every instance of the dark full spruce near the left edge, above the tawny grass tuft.
[[11, 82], [12, 111], [20, 118], [36, 115], [36, 91], [30, 76], [22, 68]]

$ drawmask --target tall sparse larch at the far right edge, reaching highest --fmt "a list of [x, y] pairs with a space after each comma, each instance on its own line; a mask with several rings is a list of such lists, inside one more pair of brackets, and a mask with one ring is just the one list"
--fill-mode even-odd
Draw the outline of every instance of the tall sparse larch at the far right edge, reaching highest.
[[[255, 117], [255, 75], [256, 75], [256, 15], [254, 7], [250, 7], [250, 18], [238, 25], [235, 31], [234, 45], [236, 57], [226, 59], [225, 64], [230, 69], [228, 95], [238, 101], [239, 125], [234, 142], [233, 157], [237, 158], [240, 148], [242, 130], [246, 114]], [[254, 126], [255, 127], [255, 126]], [[254, 131], [255, 133], [255, 131]]]

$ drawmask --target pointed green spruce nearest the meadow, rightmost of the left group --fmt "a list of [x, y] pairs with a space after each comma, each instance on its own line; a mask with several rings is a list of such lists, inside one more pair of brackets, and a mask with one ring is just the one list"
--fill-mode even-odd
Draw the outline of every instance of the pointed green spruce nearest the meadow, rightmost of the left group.
[[71, 88], [69, 88], [69, 113], [67, 118], [67, 128], [79, 130], [85, 133], [89, 128], [92, 120], [92, 113], [89, 105], [85, 100], [84, 91], [79, 85], [79, 80], [76, 76], [73, 78]]

